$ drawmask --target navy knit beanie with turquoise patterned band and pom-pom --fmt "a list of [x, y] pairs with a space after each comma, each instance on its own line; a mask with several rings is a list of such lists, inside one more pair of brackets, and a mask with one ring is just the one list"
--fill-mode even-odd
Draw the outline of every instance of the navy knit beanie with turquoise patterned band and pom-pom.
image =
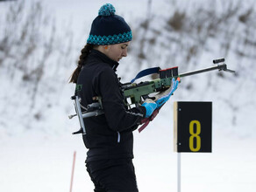
[[87, 43], [91, 45], [113, 45], [132, 40], [132, 31], [123, 17], [115, 15], [112, 4], [104, 4], [91, 24]]

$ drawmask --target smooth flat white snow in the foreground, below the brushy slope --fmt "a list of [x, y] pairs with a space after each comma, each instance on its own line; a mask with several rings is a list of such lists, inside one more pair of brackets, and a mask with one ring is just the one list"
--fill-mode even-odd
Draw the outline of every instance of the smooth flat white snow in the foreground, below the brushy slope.
[[[172, 120], [162, 119], [158, 117], [142, 133], [135, 133], [134, 164], [142, 192], [177, 191]], [[256, 189], [255, 139], [216, 131], [214, 126], [212, 148], [211, 154], [181, 154], [181, 191]], [[68, 191], [74, 151], [77, 154], [73, 191], [93, 191], [84, 167], [86, 150], [80, 135], [33, 131], [2, 138], [0, 190]]]

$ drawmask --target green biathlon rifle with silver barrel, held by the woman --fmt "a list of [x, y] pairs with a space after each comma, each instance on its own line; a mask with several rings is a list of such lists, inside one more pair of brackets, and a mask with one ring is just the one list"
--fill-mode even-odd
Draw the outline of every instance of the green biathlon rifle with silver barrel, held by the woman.
[[[135, 106], [141, 105], [144, 99], [149, 98], [149, 94], [163, 92], [167, 90], [167, 88], [172, 86], [173, 78], [178, 79], [180, 81], [180, 79], [183, 77], [196, 75], [202, 72], [210, 72], [213, 70], [235, 73], [235, 71], [228, 69], [227, 65], [224, 64], [224, 58], [215, 59], [213, 60], [213, 63], [217, 65], [204, 68], [201, 70], [196, 70], [193, 72], [184, 72], [180, 74], [178, 73], [178, 66], [164, 69], [164, 70], [160, 70], [160, 67], [154, 67], [154, 68], [141, 71], [138, 73], [135, 79], [132, 79], [132, 82], [125, 83], [122, 86], [122, 91], [124, 94], [124, 103], [127, 106], [131, 106], [133, 104]], [[133, 83], [136, 79], [139, 79], [141, 77], [144, 77], [152, 73], [159, 73], [160, 79], [153, 79], [152, 81], [144, 81], [144, 82], [140, 82], [139, 84]], [[100, 97], [93, 98], [95, 102], [90, 104], [87, 108], [81, 105], [80, 97], [77, 94], [72, 96], [71, 99], [75, 101], [74, 104], [75, 104], [76, 113], [73, 115], [69, 115], [68, 118], [72, 119], [73, 117], [78, 116], [78, 120], [81, 126], [81, 128], [73, 134], [86, 134], [86, 129], [84, 126], [83, 119], [89, 118], [89, 117], [95, 117], [103, 114], [102, 99]], [[127, 102], [127, 99], [130, 99], [130, 102]], [[84, 112], [82, 112], [82, 108], [85, 110]]]

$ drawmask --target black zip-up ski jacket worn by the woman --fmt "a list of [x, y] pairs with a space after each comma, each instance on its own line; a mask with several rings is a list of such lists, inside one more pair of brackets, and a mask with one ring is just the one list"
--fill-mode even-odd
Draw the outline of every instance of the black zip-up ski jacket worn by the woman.
[[87, 160], [133, 158], [133, 135], [146, 114], [144, 106], [130, 110], [124, 105], [121, 83], [117, 79], [118, 63], [100, 51], [92, 50], [77, 79], [82, 106], [101, 96], [102, 115], [84, 119], [86, 134], [82, 136], [89, 151]]

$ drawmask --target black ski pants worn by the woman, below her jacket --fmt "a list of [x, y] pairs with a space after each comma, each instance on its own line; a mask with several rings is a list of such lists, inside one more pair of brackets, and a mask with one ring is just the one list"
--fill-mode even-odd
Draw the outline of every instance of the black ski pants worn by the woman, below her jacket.
[[89, 161], [86, 167], [95, 192], [139, 192], [132, 159]]

